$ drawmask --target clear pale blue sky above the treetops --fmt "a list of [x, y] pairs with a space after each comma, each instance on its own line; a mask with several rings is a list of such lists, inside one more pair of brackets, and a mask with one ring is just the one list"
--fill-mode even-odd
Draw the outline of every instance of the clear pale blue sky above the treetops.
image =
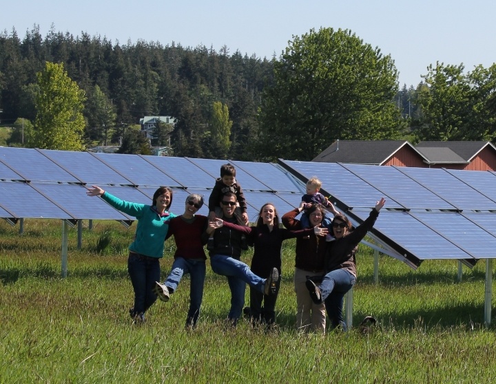
[[138, 40], [183, 47], [205, 45], [229, 54], [271, 59], [292, 36], [311, 29], [351, 30], [395, 61], [400, 87], [416, 86], [428, 65], [496, 63], [495, 0], [251, 0], [251, 1], [4, 1], [0, 30], [23, 39], [39, 25], [56, 32], [105, 36], [125, 45]]

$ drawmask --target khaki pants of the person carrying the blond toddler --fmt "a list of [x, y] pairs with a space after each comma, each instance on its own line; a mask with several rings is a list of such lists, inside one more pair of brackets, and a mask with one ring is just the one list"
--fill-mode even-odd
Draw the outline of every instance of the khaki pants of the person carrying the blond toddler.
[[295, 268], [294, 285], [296, 292], [296, 328], [302, 332], [325, 332], [326, 312], [324, 303], [313, 303], [305, 286], [308, 276], [324, 276], [308, 270]]

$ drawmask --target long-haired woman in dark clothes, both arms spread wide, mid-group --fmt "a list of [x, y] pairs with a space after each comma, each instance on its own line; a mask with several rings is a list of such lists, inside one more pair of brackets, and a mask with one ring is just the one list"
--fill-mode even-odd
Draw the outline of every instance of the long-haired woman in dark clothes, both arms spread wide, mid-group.
[[[267, 276], [272, 268], [277, 268], [281, 274], [281, 247], [285, 239], [302, 237], [315, 233], [319, 236], [327, 234], [326, 228], [304, 229], [289, 231], [279, 228], [279, 216], [276, 207], [271, 203], [264, 204], [258, 214], [256, 226], [239, 226], [223, 220], [217, 220], [218, 226], [225, 225], [247, 235], [248, 242], [254, 244], [254, 257], [251, 260], [251, 271], [258, 276]], [[273, 295], [264, 295], [258, 290], [250, 288], [251, 317], [256, 322], [270, 325], [276, 321], [276, 300], [278, 297], [280, 279], [276, 283], [276, 292]], [[262, 303], [264, 311], [262, 314]]]

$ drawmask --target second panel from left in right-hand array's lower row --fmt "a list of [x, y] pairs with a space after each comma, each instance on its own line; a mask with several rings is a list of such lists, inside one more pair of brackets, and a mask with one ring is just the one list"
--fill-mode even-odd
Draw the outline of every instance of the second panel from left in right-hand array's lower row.
[[475, 259], [496, 257], [495, 235], [473, 224], [464, 215], [446, 212], [415, 212], [411, 215]]

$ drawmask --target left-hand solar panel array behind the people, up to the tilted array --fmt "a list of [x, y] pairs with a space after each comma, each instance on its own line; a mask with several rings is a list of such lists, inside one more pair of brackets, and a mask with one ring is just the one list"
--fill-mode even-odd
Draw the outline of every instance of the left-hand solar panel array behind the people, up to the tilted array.
[[[205, 199], [199, 213], [207, 215], [211, 189], [226, 162], [0, 147], [0, 217], [134, 220], [99, 198], [86, 196], [92, 185], [122, 200], [143, 204], [151, 204], [158, 186], [169, 186], [173, 191], [170, 211], [176, 214], [183, 213], [190, 193], [198, 193]], [[280, 213], [300, 204], [301, 187], [281, 167], [231, 164], [247, 198], [250, 220], [256, 220], [265, 202], [272, 202]]]

